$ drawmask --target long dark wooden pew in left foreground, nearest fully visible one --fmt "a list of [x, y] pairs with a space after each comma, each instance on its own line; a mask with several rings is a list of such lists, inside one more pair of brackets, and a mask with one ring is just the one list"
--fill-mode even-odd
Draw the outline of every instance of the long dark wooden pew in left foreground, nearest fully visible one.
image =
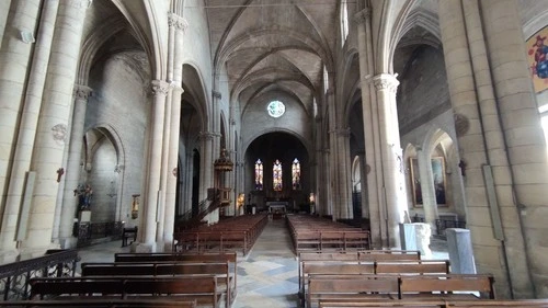
[[215, 276], [32, 278], [31, 299], [178, 299], [219, 307]]

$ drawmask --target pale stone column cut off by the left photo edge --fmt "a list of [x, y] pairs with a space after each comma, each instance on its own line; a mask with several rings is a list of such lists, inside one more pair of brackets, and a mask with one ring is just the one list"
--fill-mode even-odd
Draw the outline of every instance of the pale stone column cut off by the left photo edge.
[[[15, 147], [18, 139], [16, 132], [16, 119], [20, 117], [20, 111], [23, 107], [23, 91], [25, 89], [25, 79], [28, 66], [31, 64], [31, 49], [32, 44], [24, 43], [19, 32], [22, 28], [33, 31], [36, 27], [36, 20], [38, 18], [39, 0], [30, 1], [14, 1], [9, 10], [10, 24], [5, 25], [7, 33], [9, 35], [3, 36], [2, 48], [0, 48], [0, 205], [7, 204], [7, 175], [10, 174], [10, 169], [12, 169], [12, 163], [14, 159], [12, 157], [13, 148]], [[2, 3], [0, 5], [5, 5], [8, 3]], [[8, 11], [2, 14], [8, 14]], [[3, 21], [5, 24], [5, 20]], [[3, 26], [2, 26], [3, 30]], [[2, 31], [3, 32], [3, 31]], [[16, 170], [14, 170], [16, 171]], [[13, 192], [16, 194], [21, 193], [24, 172], [22, 174], [15, 174], [20, 179], [19, 192]], [[13, 178], [13, 176], [12, 176]], [[10, 192], [12, 193], [12, 192]], [[4, 209], [2, 208], [2, 212]], [[19, 212], [15, 208], [15, 212]], [[9, 215], [16, 215], [10, 209]], [[12, 223], [11, 225], [15, 225]], [[3, 229], [3, 224], [2, 224]], [[4, 244], [4, 242], [2, 242]], [[13, 238], [5, 242], [8, 247], [5, 249], [13, 248]]]

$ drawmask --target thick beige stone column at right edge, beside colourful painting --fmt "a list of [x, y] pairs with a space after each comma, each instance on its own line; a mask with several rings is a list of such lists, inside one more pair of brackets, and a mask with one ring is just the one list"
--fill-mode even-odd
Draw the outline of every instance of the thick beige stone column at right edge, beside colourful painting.
[[[548, 164], [545, 136], [526, 59], [521, 12], [516, 1], [488, 0], [480, 1], [479, 5], [511, 167], [509, 172], [505, 166], [496, 169], [493, 166], [493, 176], [507, 179], [511, 174], [516, 201], [516, 204], [506, 202], [500, 205], [501, 216], [507, 217], [503, 226], [505, 244], [511, 246], [507, 254], [514, 274], [514, 296], [527, 298], [533, 292], [534, 296], [545, 298], [548, 297], [548, 226], [545, 221], [548, 215]], [[510, 193], [511, 189], [504, 186], [504, 191], [499, 193], [503, 192]], [[518, 232], [518, 218], [524, 233]], [[527, 252], [528, 272], [525, 272], [523, 253], [518, 252], [522, 244]], [[521, 266], [515, 262], [520, 262], [517, 264]], [[518, 275], [522, 271], [525, 273]]]

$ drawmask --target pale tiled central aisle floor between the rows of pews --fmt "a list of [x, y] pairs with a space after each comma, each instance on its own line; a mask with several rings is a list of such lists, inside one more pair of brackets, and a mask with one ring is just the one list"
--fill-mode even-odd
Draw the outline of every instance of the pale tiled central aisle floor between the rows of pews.
[[269, 221], [246, 259], [238, 262], [233, 308], [298, 307], [298, 267], [285, 219]]

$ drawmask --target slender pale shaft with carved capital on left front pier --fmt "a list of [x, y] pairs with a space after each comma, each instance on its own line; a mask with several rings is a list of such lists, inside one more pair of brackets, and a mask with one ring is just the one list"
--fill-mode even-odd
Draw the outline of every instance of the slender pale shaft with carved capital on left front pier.
[[139, 230], [139, 250], [156, 251], [156, 231], [160, 195], [161, 160], [163, 144], [163, 121], [165, 116], [165, 98], [169, 92], [169, 84], [162, 80], [152, 80], [153, 102], [151, 109], [150, 132], [148, 134], [148, 163], [147, 184], [142, 197], [144, 209], [141, 229]]

